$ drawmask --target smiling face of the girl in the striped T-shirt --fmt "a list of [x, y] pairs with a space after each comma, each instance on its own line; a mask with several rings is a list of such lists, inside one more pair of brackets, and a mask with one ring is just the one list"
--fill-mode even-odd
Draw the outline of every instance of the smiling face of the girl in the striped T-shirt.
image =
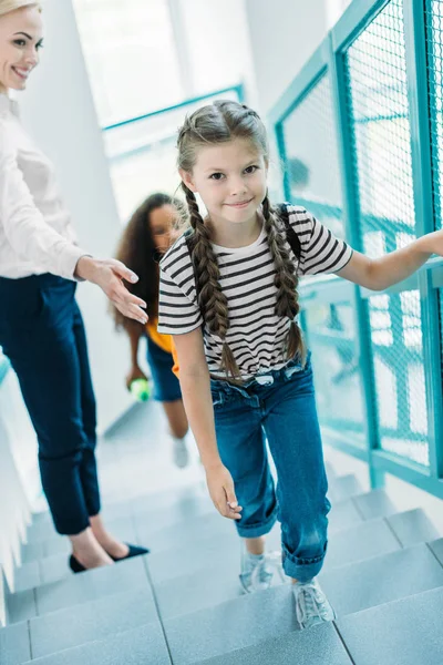
[[255, 219], [266, 196], [268, 164], [245, 139], [198, 149], [193, 172], [181, 171], [192, 192], [202, 196], [213, 222]]

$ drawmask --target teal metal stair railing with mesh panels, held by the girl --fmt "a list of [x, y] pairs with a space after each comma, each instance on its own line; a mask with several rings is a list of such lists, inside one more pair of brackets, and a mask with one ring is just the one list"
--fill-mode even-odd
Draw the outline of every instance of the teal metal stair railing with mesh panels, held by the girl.
[[[442, 228], [442, 83], [443, 0], [353, 0], [270, 114], [286, 160], [305, 135], [321, 153], [312, 127], [330, 122], [342, 194], [288, 188], [302, 181], [288, 171], [286, 192], [374, 258]], [[337, 277], [300, 283], [328, 441], [367, 460], [374, 487], [388, 472], [441, 498], [442, 264], [381, 293]]]

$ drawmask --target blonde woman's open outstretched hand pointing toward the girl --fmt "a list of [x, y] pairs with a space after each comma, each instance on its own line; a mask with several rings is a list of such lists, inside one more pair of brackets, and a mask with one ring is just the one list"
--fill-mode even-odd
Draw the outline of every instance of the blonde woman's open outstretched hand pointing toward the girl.
[[75, 276], [100, 286], [123, 316], [143, 325], [147, 323], [147, 315], [143, 311], [146, 303], [131, 294], [123, 284], [123, 279], [135, 284], [138, 277], [122, 262], [82, 256], [76, 264]]

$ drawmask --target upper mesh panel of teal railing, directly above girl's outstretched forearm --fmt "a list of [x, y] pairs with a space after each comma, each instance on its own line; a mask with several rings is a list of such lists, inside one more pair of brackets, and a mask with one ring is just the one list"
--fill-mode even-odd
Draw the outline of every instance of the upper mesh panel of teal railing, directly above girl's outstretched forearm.
[[402, 0], [391, 0], [349, 47], [347, 76], [362, 247], [380, 256], [415, 237]]

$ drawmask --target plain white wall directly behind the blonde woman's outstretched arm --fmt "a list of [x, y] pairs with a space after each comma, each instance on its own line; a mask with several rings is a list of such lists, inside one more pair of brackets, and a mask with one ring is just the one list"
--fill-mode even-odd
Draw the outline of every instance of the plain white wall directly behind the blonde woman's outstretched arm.
[[[19, 96], [23, 123], [55, 163], [81, 246], [96, 256], [110, 256], [121, 226], [71, 0], [45, 0], [43, 16], [42, 61], [28, 91]], [[82, 284], [78, 293], [103, 430], [131, 403], [123, 381], [127, 344], [113, 330], [102, 291]]]

